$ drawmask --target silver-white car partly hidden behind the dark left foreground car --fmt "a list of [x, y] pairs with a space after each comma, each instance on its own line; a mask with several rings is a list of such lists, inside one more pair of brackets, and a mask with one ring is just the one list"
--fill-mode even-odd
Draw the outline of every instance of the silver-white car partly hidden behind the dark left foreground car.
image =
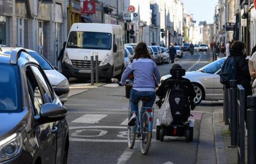
[[[11, 54], [11, 47], [5, 47], [4, 54]], [[42, 69], [45, 71], [46, 76], [48, 77], [50, 84], [52, 85], [55, 93], [60, 98], [60, 101], [64, 104], [64, 102], [68, 101], [68, 93], [69, 93], [69, 83], [68, 79], [61, 73], [58, 72], [58, 67], [52, 66], [42, 55], [33, 50], [25, 49], [30, 56], [35, 58]]]

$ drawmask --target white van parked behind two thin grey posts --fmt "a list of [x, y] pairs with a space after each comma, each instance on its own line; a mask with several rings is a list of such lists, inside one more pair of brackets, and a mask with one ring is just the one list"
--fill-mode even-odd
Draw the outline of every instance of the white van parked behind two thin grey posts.
[[91, 77], [91, 51], [98, 52], [99, 79], [122, 75], [124, 70], [123, 28], [120, 25], [74, 23], [65, 47], [62, 74], [67, 78]]

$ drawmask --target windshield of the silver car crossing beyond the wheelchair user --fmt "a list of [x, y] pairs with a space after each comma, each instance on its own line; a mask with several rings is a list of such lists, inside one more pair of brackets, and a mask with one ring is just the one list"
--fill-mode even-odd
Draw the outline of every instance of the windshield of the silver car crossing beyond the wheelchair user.
[[221, 69], [224, 61], [225, 61], [225, 59], [223, 59], [223, 58], [215, 60], [214, 62], [204, 66], [203, 68], [199, 69], [198, 71], [202, 71], [202, 72], [208, 73], [208, 74], [214, 74], [219, 69]]

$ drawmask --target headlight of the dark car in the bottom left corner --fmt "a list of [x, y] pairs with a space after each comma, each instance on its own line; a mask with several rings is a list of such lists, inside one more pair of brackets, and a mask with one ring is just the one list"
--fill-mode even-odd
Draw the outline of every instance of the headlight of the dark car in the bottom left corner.
[[22, 148], [21, 134], [14, 133], [10, 137], [0, 141], [0, 161], [15, 157]]

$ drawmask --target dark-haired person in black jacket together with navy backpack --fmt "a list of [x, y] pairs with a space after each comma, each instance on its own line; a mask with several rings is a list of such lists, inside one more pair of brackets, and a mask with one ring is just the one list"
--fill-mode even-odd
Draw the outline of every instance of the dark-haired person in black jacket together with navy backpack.
[[[251, 75], [249, 66], [244, 55], [245, 44], [240, 41], [234, 41], [230, 46], [230, 56], [225, 60], [220, 73], [221, 83], [227, 87], [230, 85], [230, 80], [237, 80], [245, 89], [245, 124], [247, 123], [247, 97], [252, 95]], [[247, 125], [247, 124], [246, 124]], [[247, 126], [246, 126], [247, 127]]]

